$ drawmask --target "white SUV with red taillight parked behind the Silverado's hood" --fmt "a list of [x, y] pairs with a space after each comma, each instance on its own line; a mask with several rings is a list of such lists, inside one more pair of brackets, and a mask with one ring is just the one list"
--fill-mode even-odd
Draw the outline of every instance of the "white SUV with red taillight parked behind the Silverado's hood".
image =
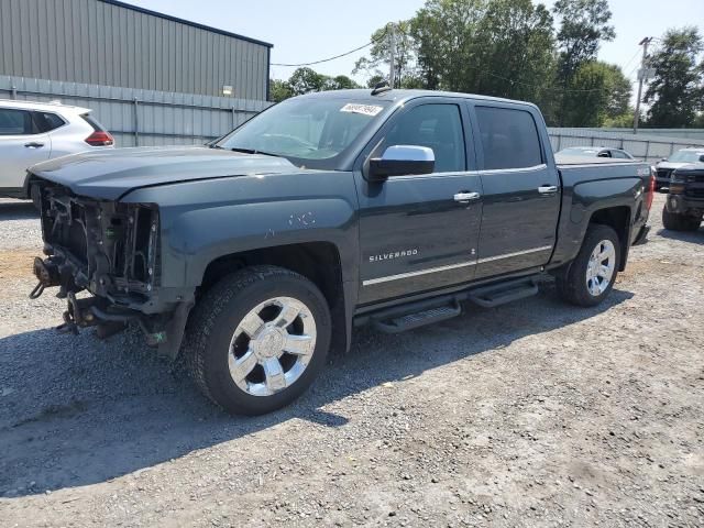
[[112, 148], [87, 108], [0, 99], [0, 196], [29, 198], [26, 169], [46, 160]]

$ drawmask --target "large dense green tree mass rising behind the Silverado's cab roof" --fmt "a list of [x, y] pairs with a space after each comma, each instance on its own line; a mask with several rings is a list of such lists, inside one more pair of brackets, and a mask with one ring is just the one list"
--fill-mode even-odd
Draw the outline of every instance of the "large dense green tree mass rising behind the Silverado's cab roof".
[[429, 0], [410, 31], [428, 88], [537, 102], [552, 78], [552, 16], [531, 0]]

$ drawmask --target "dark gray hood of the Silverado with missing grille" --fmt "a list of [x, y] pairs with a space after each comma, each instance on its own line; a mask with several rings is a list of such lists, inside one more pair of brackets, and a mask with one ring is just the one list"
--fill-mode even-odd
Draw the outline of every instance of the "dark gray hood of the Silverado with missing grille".
[[86, 152], [30, 168], [30, 173], [68, 187], [76, 195], [107, 200], [155, 185], [293, 170], [296, 166], [283, 157], [202, 146]]

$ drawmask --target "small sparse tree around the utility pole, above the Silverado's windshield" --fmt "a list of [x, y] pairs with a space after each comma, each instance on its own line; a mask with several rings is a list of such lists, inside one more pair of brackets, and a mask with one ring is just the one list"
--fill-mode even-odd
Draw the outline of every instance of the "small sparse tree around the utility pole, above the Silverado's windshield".
[[[394, 54], [394, 66], [396, 82], [394, 88], [407, 87], [407, 79], [415, 76], [416, 45], [410, 35], [410, 22], [389, 22], [384, 28], [372, 33], [372, 47], [369, 57], [362, 57], [354, 64], [352, 75], [361, 72], [366, 73], [372, 78], [382, 77], [388, 80], [391, 64], [391, 32], [394, 32], [396, 53]], [[383, 68], [383, 69], [381, 69]]]

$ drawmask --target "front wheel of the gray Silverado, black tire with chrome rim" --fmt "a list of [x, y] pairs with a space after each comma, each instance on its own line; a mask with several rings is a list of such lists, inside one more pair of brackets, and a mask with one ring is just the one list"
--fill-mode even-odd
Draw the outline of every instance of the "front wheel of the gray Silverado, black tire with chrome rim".
[[189, 318], [183, 354], [190, 376], [231, 414], [284, 407], [312, 383], [330, 348], [331, 319], [304, 276], [254, 266], [222, 278]]

